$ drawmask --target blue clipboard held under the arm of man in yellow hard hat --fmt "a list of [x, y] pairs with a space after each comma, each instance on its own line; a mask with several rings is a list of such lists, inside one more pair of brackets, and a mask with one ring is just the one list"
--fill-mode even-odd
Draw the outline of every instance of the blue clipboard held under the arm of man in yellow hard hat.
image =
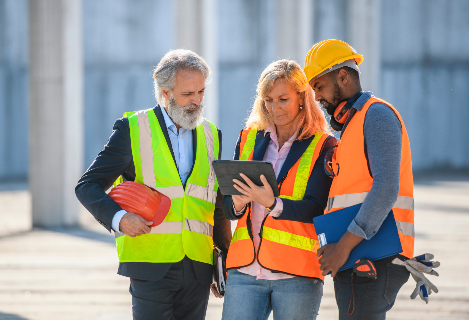
[[[347, 231], [350, 222], [356, 217], [361, 206], [362, 204], [356, 204], [313, 218], [319, 243], [324, 245], [325, 243], [338, 242]], [[399, 240], [394, 214], [391, 210], [378, 232], [370, 240], [362, 240], [353, 248], [347, 262], [339, 271], [352, 268], [355, 262], [362, 258], [374, 261], [401, 252], [401, 240]]]

